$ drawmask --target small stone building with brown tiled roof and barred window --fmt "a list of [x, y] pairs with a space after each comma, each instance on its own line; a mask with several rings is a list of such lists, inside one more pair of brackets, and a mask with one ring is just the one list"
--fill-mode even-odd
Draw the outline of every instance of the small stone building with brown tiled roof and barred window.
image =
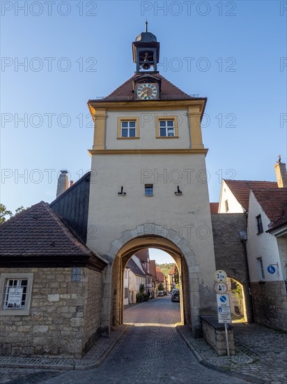
[[100, 334], [107, 261], [45, 202], [1, 224], [0, 233], [2, 353], [82, 357]]

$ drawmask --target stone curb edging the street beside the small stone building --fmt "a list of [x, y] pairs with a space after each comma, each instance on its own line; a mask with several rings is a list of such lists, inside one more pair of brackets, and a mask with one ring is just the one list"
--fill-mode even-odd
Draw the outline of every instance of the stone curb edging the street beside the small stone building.
[[[98, 368], [102, 362], [108, 357], [109, 353], [111, 353], [111, 350], [118, 344], [118, 341], [120, 341], [127, 332], [128, 325], [121, 330], [118, 337], [116, 337], [113, 341], [111, 341], [111, 344], [107, 347], [106, 350], [104, 350], [104, 353], [100, 355], [98, 360], [95, 360], [95, 362], [87, 363], [87, 364], [41, 364], [41, 363], [15, 363], [15, 362], [0, 362], [0, 368], [30, 368], [30, 369], [57, 369], [57, 370], [83, 370], [83, 369], [93, 369]], [[92, 360], [92, 359], [91, 359]], [[81, 361], [81, 360], [79, 360]]]

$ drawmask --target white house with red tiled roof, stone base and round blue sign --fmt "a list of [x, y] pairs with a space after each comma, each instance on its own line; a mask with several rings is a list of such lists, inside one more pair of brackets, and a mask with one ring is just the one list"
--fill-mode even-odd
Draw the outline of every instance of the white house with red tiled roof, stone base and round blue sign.
[[287, 188], [252, 189], [247, 258], [256, 323], [287, 331]]

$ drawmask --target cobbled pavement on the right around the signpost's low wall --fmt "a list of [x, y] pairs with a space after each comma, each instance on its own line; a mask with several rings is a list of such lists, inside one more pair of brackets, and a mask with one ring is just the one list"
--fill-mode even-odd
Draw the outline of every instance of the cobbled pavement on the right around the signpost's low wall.
[[255, 377], [261, 383], [287, 383], [287, 334], [258, 324], [233, 324], [235, 355], [218, 356], [203, 339], [194, 339], [187, 327], [181, 334], [203, 362]]

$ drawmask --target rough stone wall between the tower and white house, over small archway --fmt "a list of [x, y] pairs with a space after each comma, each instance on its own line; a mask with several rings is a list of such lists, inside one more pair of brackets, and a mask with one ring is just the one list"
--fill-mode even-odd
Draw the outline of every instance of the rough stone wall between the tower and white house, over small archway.
[[247, 230], [245, 214], [212, 214], [212, 232], [215, 244], [215, 264], [224, 269], [228, 277], [239, 281], [245, 293], [247, 321], [253, 321], [249, 275], [245, 244], [240, 241], [240, 231]]

